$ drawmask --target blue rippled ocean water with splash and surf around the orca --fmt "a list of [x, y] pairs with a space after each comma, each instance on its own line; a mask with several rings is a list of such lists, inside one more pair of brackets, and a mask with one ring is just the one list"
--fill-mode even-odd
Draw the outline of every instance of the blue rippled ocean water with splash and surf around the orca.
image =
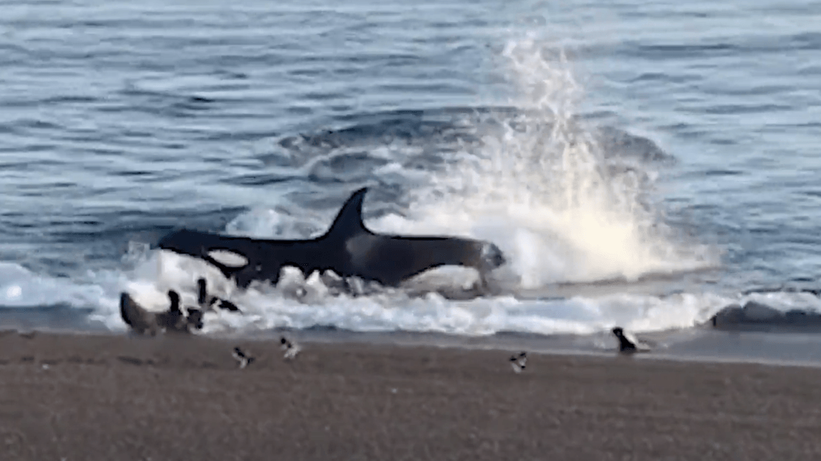
[[[652, 334], [821, 304], [800, 291], [821, 273], [821, 2], [2, 11], [4, 326], [125, 331], [122, 291], [161, 309], [199, 276], [245, 310], [205, 334]], [[497, 244], [502, 293], [448, 299], [475, 280], [452, 267], [359, 297], [292, 273], [237, 290], [152, 248], [181, 226], [321, 235], [362, 186], [373, 230]]]

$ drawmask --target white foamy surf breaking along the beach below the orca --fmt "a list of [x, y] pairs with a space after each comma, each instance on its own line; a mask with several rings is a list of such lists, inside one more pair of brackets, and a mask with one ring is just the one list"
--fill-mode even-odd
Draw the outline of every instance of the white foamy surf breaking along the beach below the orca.
[[[146, 253], [133, 272], [89, 274], [89, 281], [84, 283], [39, 276], [14, 264], [0, 265], [0, 276], [7, 281], [0, 286], [0, 295], [5, 296], [0, 300], [3, 306], [27, 308], [64, 303], [93, 308], [90, 319], [102, 322], [112, 331], [126, 328], [118, 307], [121, 290], [154, 311], [167, 308], [169, 288], [180, 292], [183, 304], [195, 305], [198, 276], [206, 276], [214, 294], [231, 299], [244, 311], [208, 313], [206, 334], [317, 325], [352, 331], [434, 331], [455, 335], [490, 335], [499, 331], [589, 334], [607, 331], [614, 325], [644, 332], [694, 326], [706, 322], [720, 308], [750, 300], [782, 311], [821, 310], [821, 300], [814, 295], [794, 292], [743, 296], [622, 292], [562, 299], [505, 295], [455, 301], [433, 293], [410, 296], [403, 290], [383, 290], [352, 297], [323, 284], [319, 274], [305, 279], [295, 269], [283, 271], [282, 280], [275, 287], [251, 285], [248, 290], [236, 290], [204, 262], [156, 251]], [[456, 282], [470, 280], [463, 272], [444, 271], [441, 276], [452, 277]]]

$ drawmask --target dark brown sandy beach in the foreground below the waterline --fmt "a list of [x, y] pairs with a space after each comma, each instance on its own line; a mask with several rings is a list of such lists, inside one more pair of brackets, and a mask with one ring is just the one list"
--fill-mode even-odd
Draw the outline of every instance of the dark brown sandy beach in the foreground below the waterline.
[[0, 459], [821, 459], [819, 368], [304, 347], [3, 333]]

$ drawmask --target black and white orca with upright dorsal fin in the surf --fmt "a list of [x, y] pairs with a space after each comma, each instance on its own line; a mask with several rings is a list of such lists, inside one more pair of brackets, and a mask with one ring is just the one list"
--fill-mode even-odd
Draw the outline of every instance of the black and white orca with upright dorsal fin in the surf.
[[160, 249], [200, 258], [218, 267], [236, 285], [279, 280], [282, 267], [297, 267], [310, 276], [333, 271], [383, 286], [397, 286], [433, 267], [473, 267], [480, 280], [505, 262], [495, 244], [461, 237], [377, 234], [362, 221], [367, 188], [346, 201], [328, 231], [311, 240], [264, 240], [218, 235], [199, 230], [175, 230], [159, 240]]

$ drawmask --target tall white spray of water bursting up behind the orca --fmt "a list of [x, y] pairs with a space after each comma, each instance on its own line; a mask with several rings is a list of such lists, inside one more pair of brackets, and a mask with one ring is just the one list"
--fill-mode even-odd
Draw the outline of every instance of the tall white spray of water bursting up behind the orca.
[[417, 191], [413, 221], [497, 242], [511, 257], [507, 278], [522, 288], [709, 265], [704, 249], [664, 231], [652, 168], [604, 152], [576, 116], [583, 91], [565, 53], [529, 38], [503, 56], [520, 114]]

